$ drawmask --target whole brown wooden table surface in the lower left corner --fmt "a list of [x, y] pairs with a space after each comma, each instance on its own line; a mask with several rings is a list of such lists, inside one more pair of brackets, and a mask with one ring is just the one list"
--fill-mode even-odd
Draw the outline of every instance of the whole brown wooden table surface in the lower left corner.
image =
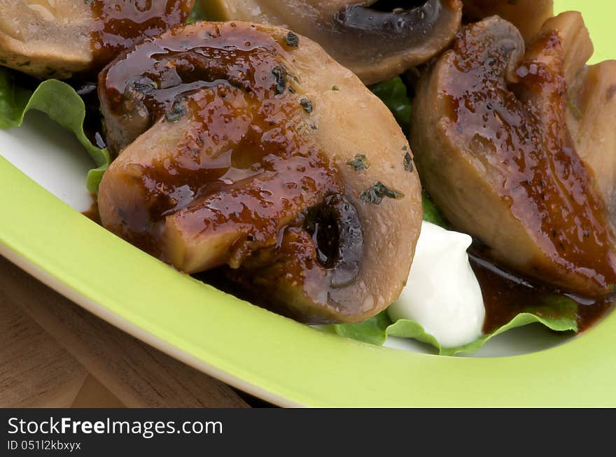
[[[0, 407], [248, 407], [0, 257]], [[260, 405], [258, 400], [255, 405]]]

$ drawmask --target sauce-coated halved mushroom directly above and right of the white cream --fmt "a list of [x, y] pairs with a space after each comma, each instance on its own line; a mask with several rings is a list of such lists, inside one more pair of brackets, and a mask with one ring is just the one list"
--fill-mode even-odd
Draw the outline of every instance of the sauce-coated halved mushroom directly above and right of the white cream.
[[411, 143], [436, 204], [498, 262], [602, 295], [615, 239], [566, 125], [571, 36], [548, 27], [524, 55], [510, 22], [465, 27], [419, 83]]

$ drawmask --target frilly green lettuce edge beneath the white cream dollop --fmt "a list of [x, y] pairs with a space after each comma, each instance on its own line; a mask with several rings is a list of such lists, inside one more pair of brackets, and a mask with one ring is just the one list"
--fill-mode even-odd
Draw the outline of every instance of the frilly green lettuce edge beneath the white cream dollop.
[[496, 335], [531, 323], [540, 323], [556, 332], [577, 332], [577, 304], [567, 297], [558, 295], [540, 296], [537, 306], [528, 307], [523, 313], [518, 314], [494, 332], [482, 335], [474, 342], [456, 348], [440, 346], [435, 337], [428, 334], [419, 323], [414, 321], [400, 319], [393, 323], [387, 311], [381, 311], [377, 316], [362, 323], [332, 325], [331, 327], [340, 336], [377, 346], [381, 346], [388, 336], [413, 338], [434, 346], [440, 356], [455, 356], [458, 353], [473, 353]]

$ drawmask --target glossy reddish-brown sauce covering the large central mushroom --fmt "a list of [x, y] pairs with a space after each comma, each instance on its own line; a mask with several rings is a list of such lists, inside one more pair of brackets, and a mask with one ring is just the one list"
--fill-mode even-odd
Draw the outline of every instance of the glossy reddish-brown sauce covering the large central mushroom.
[[286, 231], [340, 192], [340, 183], [314, 143], [317, 127], [300, 103], [300, 83], [281, 59], [289, 51], [285, 40], [245, 24], [178, 28], [101, 73], [99, 96], [109, 115], [124, 115], [138, 92], [145, 129], [157, 122], [181, 129], [172, 150], [140, 161], [138, 176], [121, 178], [137, 183], [146, 211], [125, 211], [111, 230], [164, 260], [156, 246], [170, 225], [204, 243], [232, 233], [220, 263], [237, 268], [246, 260], [244, 271], [258, 274], [263, 265], [294, 258], [285, 280], [307, 282], [312, 264], [304, 253], [316, 260], [314, 240], [300, 237], [300, 248]]

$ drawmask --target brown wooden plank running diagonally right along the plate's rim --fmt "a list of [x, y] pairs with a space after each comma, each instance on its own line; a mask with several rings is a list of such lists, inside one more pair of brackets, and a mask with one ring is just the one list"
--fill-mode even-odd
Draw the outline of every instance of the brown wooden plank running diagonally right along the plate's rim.
[[0, 302], [24, 309], [127, 407], [247, 406], [226, 384], [102, 321], [1, 257]]

